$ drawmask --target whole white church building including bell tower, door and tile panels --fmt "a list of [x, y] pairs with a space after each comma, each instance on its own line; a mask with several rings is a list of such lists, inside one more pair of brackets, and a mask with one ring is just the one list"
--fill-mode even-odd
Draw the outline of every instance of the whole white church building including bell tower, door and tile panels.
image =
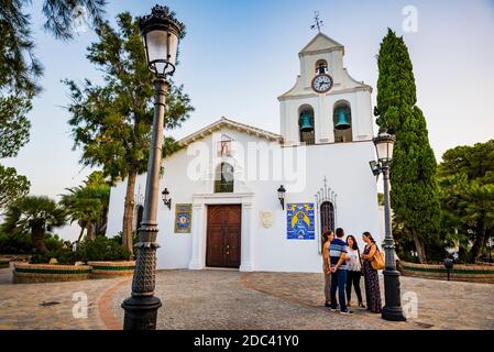
[[[163, 161], [157, 268], [320, 273], [323, 230], [381, 242], [372, 88], [343, 55], [322, 33], [300, 51], [300, 75], [278, 97], [281, 134], [221, 118], [179, 141]], [[111, 189], [109, 235], [122, 230], [125, 187]], [[134, 229], [144, 189], [140, 175]]]

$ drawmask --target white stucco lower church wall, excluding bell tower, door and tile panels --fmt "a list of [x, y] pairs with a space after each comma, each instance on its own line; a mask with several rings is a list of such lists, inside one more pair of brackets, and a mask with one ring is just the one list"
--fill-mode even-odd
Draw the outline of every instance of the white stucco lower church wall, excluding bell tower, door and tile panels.
[[[238, 145], [249, 142], [266, 143], [243, 132], [222, 129], [217, 134], [189, 145], [191, 151], [216, 151], [215, 139], [226, 133]], [[256, 144], [254, 144], [256, 145]], [[267, 144], [262, 144], [265, 146]], [[277, 152], [288, 152], [300, 147], [282, 147]], [[246, 148], [245, 148], [246, 150]], [[273, 177], [267, 179], [246, 179], [248, 167], [235, 167], [234, 194], [212, 194], [212, 168], [202, 170], [200, 179], [191, 179], [187, 169], [197, 165], [196, 155], [187, 155], [187, 150], [174, 154], [164, 161], [165, 172], [160, 189], [168, 188], [173, 200], [172, 210], [162, 202], [158, 210], [158, 268], [202, 268], [206, 254], [206, 213], [208, 204], [243, 204], [242, 210], [242, 264], [243, 271], [281, 271], [281, 272], [320, 272], [321, 256], [318, 240], [298, 241], [286, 239], [286, 210], [282, 210], [276, 189], [284, 184], [286, 204], [315, 202], [316, 193], [323, 186], [323, 177], [328, 186], [337, 194], [337, 227], [342, 227], [348, 234], [353, 234], [361, 241], [363, 231], [371, 231], [380, 238], [375, 177], [369, 169], [369, 161], [374, 157], [372, 142], [323, 144], [305, 147], [305, 166], [298, 169], [298, 178], [305, 179], [305, 185], [295, 185], [286, 179]], [[275, 152], [276, 153], [276, 152]], [[242, 160], [237, 153], [237, 158]], [[211, 153], [200, 157], [205, 164], [211, 163]], [[232, 163], [234, 163], [232, 161]], [[260, 160], [260, 164], [265, 170]], [[268, 165], [273, 164], [270, 160]], [[271, 166], [270, 166], [271, 167]], [[249, 178], [249, 177], [246, 177]], [[145, 188], [145, 175], [136, 180], [136, 189]], [[294, 191], [295, 188], [298, 188]], [[110, 197], [110, 215], [108, 233], [121, 231], [123, 216], [123, 199], [125, 183], [112, 188]], [[193, 233], [175, 234], [175, 205], [193, 204]], [[274, 212], [274, 224], [265, 229], [261, 224], [260, 211]], [[316, 213], [317, 217], [317, 213]], [[316, 221], [317, 222], [317, 221]], [[319, 229], [316, 229], [319, 233]]]

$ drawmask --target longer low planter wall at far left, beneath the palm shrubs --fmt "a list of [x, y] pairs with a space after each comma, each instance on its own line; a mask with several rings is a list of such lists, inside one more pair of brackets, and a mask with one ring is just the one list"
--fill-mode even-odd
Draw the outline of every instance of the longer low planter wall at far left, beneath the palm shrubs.
[[15, 263], [14, 284], [56, 283], [88, 279], [91, 275], [89, 265], [50, 265]]

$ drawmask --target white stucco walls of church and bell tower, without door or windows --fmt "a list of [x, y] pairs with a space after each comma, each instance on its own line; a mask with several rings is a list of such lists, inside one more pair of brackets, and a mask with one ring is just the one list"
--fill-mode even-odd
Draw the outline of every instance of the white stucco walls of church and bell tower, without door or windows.
[[[353, 234], [361, 245], [364, 231], [381, 243], [376, 179], [369, 167], [369, 161], [375, 158], [371, 141], [372, 89], [350, 77], [343, 68], [343, 54], [341, 44], [318, 34], [299, 54], [300, 76], [295, 87], [278, 98], [286, 145], [298, 142], [298, 109], [305, 103], [314, 108], [316, 143], [321, 144], [282, 146], [268, 143], [262, 133], [222, 127], [212, 134], [204, 133], [163, 162], [165, 172], [160, 189], [168, 188], [173, 206], [168, 210], [160, 202], [158, 268], [204, 268], [208, 205], [241, 204], [241, 271], [321, 272], [320, 229], [316, 228], [315, 240], [287, 240], [286, 208], [281, 207], [277, 188], [284, 185], [287, 189], [285, 204], [316, 202], [315, 195], [323, 187], [325, 177], [338, 194], [336, 226]], [[326, 95], [317, 95], [309, 87], [319, 58], [327, 59], [334, 78], [334, 88]], [[332, 143], [332, 110], [339, 100], [351, 105], [354, 141], [351, 143]], [[234, 141], [233, 157], [229, 160], [235, 169], [233, 194], [213, 194], [215, 166], [220, 162], [213, 156], [221, 134]], [[292, 169], [287, 165], [294, 160], [296, 172], [286, 172]], [[111, 190], [108, 235], [122, 229], [125, 186], [124, 182]], [[139, 176], [135, 189], [139, 188], [144, 194], [145, 175]], [[174, 233], [176, 204], [193, 205], [193, 233]], [[274, 213], [271, 228], [262, 227], [261, 211]]]

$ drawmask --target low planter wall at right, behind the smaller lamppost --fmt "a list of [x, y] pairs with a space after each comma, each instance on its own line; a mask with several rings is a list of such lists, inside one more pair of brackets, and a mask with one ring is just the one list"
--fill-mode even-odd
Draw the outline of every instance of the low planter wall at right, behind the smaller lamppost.
[[[448, 271], [442, 264], [415, 264], [399, 262], [403, 276], [448, 279]], [[450, 280], [494, 284], [494, 265], [455, 264], [450, 271]]]

